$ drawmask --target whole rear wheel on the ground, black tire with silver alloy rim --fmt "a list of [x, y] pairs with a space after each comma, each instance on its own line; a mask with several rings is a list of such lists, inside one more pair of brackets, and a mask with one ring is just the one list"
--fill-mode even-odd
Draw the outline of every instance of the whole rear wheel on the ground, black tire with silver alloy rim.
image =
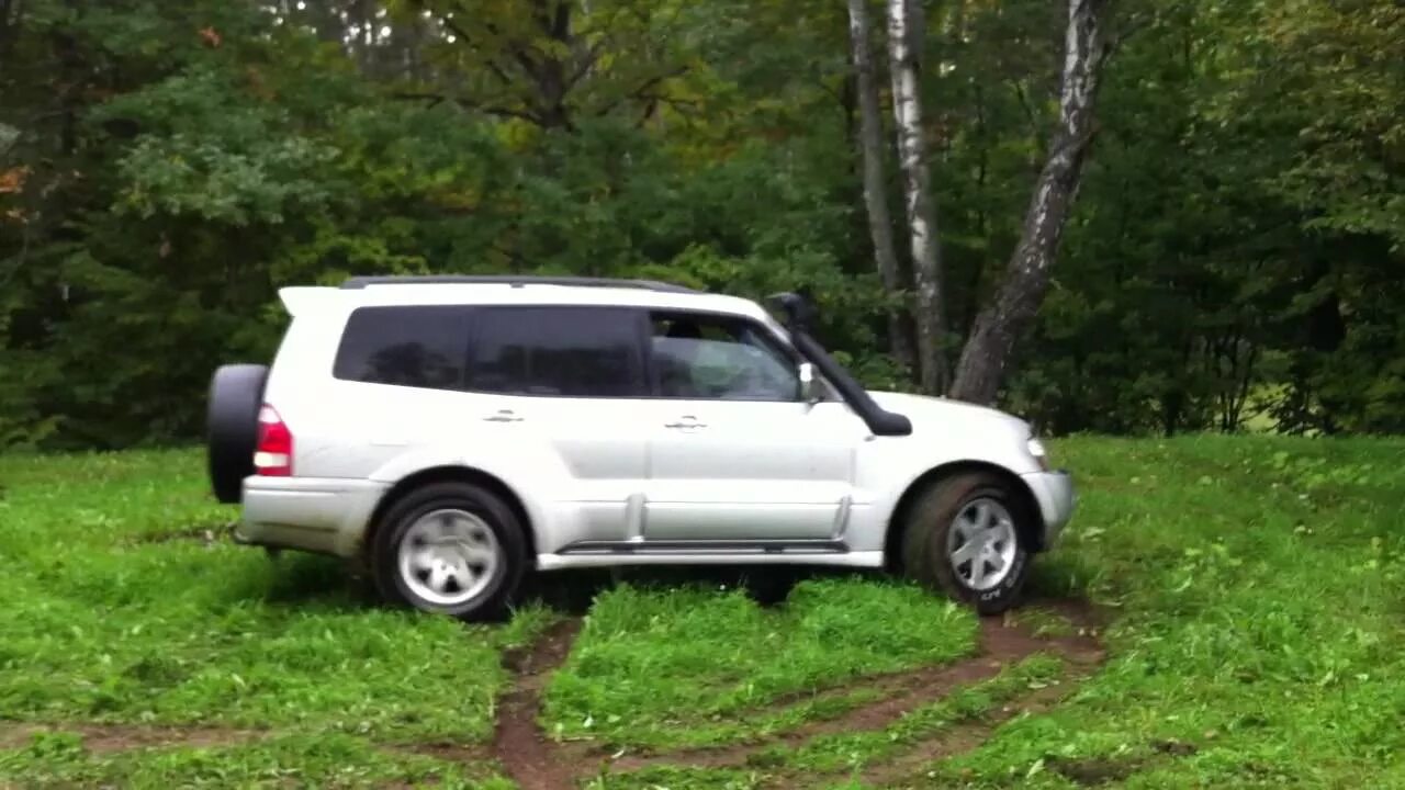
[[[455, 526], [444, 527], [443, 522]], [[523, 530], [513, 509], [493, 492], [461, 482], [430, 484], [386, 509], [371, 545], [371, 575], [381, 597], [393, 606], [468, 621], [493, 620], [513, 602], [527, 571]], [[490, 578], [478, 589], [481, 575]], [[436, 581], [450, 578], [462, 579], [457, 590], [436, 589]], [[459, 600], [459, 595], [466, 597]]]

